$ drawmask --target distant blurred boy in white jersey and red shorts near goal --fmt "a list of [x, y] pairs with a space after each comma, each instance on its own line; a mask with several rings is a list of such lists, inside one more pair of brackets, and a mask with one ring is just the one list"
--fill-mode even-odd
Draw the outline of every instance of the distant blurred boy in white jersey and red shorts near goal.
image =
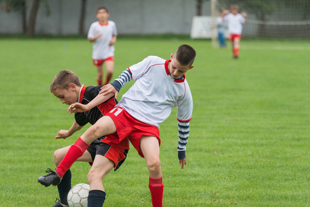
[[229, 40], [232, 43], [233, 58], [238, 59], [240, 39], [242, 33], [242, 25], [246, 23], [246, 13], [239, 12], [239, 7], [237, 5], [231, 6], [231, 13], [229, 10], [224, 10], [224, 21], [228, 22], [229, 26]]

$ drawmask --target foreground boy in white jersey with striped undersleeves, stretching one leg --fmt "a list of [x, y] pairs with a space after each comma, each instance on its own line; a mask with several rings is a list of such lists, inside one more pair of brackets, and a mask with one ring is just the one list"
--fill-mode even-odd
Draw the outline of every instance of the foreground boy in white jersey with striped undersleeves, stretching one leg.
[[84, 112], [98, 103], [105, 101], [111, 93], [117, 97], [118, 91], [131, 79], [134, 85], [126, 92], [121, 101], [106, 116], [90, 126], [84, 135], [68, 150], [59, 164], [56, 175], [46, 175], [51, 180], [57, 180], [58, 172], [70, 168], [73, 162], [83, 155], [86, 146], [96, 137], [111, 135], [110, 140], [119, 143], [126, 137], [136, 148], [141, 157], [146, 159], [149, 175], [149, 188], [153, 206], [162, 206], [164, 185], [159, 160], [159, 123], [168, 118], [171, 108], [177, 107], [179, 129], [178, 157], [182, 169], [186, 165], [186, 144], [189, 135], [189, 121], [193, 112], [191, 90], [185, 79], [185, 73], [193, 68], [196, 52], [188, 45], [182, 45], [171, 54], [170, 60], [159, 57], [146, 57], [125, 70], [113, 83], [104, 86], [102, 95], [98, 95], [87, 105], [73, 103], [68, 111]]

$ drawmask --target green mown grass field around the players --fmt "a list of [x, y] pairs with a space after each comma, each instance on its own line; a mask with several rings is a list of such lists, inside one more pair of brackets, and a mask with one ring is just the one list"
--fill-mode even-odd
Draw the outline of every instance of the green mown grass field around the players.
[[[210, 41], [185, 37], [119, 37], [115, 77], [148, 55], [168, 59], [177, 46], [197, 50], [186, 73], [194, 100], [186, 150], [177, 159], [177, 120], [161, 124], [164, 206], [309, 206], [310, 43], [242, 42], [240, 59]], [[52, 206], [55, 186], [37, 178], [53, 168], [57, 148], [72, 144], [88, 126], [66, 140], [73, 115], [49, 92], [59, 70], [94, 85], [91, 44], [86, 39], [0, 37], [0, 206]], [[118, 99], [130, 87], [128, 83]], [[72, 184], [87, 183], [90, 166], [72, 166]], [[104, 179], [105, 206], [151, 206], [148, 170], [132, 148], [128, 159]]]

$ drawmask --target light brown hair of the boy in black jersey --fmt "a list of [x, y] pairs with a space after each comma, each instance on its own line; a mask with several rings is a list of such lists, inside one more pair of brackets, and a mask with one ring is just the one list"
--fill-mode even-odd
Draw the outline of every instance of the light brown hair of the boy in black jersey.
[[55, 78], [50, 84], [50, 92], [54, 92], [57, 88], [68, 89], [70, 83], [74, 83], [76, 86], [81, 86], [79, 77], [71, 70], [61, 70], [55, 75]]

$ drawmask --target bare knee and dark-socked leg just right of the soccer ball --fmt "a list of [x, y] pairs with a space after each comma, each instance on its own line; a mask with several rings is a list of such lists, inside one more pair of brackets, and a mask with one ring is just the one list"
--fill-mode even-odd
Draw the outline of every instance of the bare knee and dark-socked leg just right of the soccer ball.
[[104, 205], [106, 193], [104, 192], [102, 180], [106, 177], [108, 172], [114, 168], [114, 166], [114, 162], [110, 159], [102, 155], [96, 155], [93, 166], [87, 175], [88, 184], [90, 185], [88, 206], [102, 207]]

